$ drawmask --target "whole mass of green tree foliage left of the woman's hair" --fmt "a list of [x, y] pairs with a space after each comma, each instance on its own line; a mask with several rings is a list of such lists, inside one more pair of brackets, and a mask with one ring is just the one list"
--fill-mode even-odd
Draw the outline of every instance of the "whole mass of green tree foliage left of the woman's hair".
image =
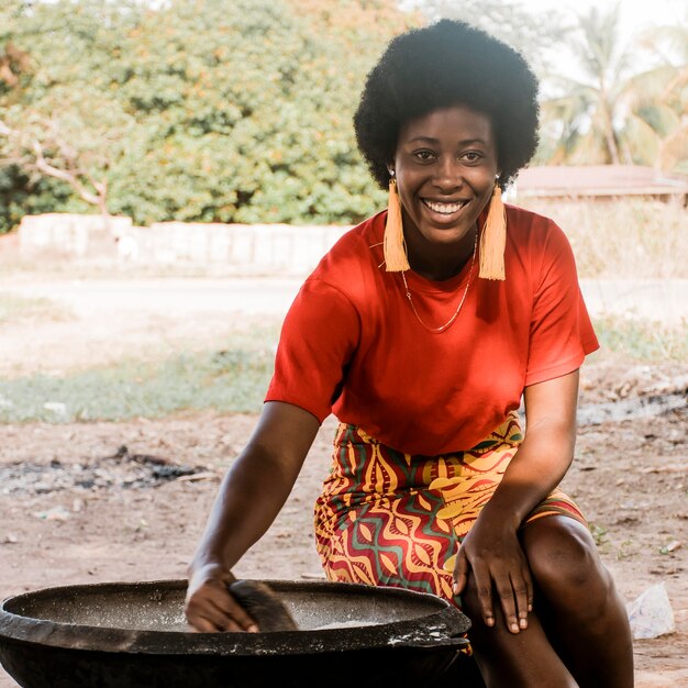
[[[0, 141], [0, 193], [53, 193], [29, 153], [36, 144], [67, 170], [59, 141], [91, 190], [107, 186], [108, 211], [137, 223], [364, 218], [382, 196], [351, 118], [365, 74], [412, 18], [391, 0], [333, 8], [58, 0], [5, 10], [0, 51], [16, 46], [29, 63], [0, 86], [0, 121], [16, 134]], [[73, 185], [54, 201], [73, 210], [88, 199]], [[5, 209], [4, 229], [18, 214]]]

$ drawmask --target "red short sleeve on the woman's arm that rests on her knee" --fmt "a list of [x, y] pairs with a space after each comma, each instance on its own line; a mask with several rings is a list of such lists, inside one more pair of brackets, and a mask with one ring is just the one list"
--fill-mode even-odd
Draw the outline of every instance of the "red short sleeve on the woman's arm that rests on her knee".
[[580, 291], [573, 249], [554, 223], [550, 224], [534, 266], [526, 386], [576, 370], [586, 355], [599, 348]]

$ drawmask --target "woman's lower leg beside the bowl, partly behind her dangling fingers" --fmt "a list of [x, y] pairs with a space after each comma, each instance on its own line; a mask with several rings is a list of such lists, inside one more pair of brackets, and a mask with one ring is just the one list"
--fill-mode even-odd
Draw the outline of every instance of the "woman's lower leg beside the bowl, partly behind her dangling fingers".
[[564, 662], [552, 647], [536, 613], [518, 634], [507, 630], [501, 609], [495, 608], [495, 625], [481, 620], [473, 577], [462, 596], [471, 620], [470, 643], [487, 688], [577, 688]]

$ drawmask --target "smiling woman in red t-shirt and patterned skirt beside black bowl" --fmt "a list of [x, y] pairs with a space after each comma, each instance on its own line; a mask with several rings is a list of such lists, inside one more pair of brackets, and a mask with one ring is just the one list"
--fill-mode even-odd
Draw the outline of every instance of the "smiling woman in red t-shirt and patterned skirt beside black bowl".
[[315, 506], [328, 578], [459, 604], [490, 687], [633, 685], [624, 606], [557, 488], [598, 343], [563, 232], [501, 203], [535, 149], [536, 91], [518, 53], [447, 20], [396, 37], [368, 75], [354, 124], [389, 208], [324, 256], [285, 320], [190, 566], [200, 631], [256, 630], [231, 568], [334, 413]]

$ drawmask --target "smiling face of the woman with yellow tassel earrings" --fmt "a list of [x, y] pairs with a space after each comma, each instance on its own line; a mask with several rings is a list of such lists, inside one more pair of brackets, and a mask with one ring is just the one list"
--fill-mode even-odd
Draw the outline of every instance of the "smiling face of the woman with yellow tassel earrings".
[[486, 114], [457, 106], [411, 120], [399, 132], [393, 169], [410, 258], [462, 240], [473, 245], [498, 174]]

